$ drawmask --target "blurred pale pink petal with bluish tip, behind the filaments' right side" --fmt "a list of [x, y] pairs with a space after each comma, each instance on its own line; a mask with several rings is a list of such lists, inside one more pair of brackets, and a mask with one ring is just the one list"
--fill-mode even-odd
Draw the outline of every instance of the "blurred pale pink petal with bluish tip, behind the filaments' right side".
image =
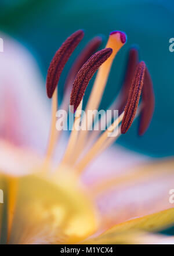
[[114, 145], [97, 157], [82, 173], [82, 182], [91, 189], [101, 182], [132, 172], [135, 166], [146, 163], [145, 155]]

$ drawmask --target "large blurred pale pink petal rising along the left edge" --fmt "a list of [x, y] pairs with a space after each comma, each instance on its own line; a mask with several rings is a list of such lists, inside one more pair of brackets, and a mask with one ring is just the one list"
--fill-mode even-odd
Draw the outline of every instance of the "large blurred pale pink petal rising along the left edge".
[[[6, 35], [0, 55], [0, 137], [43, 152], [48, 136], [44, 81], [27, 50]], [[45, 99], [44, 99], [45, 97]]]

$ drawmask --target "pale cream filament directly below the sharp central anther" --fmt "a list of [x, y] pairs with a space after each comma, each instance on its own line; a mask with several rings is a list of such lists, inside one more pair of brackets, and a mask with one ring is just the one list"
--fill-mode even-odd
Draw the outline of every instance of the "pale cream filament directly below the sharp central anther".
[[[83, 99], [81, 100], [81, 103], [79, 104], [76, 112], [81, 111], [82, 102], [83, 102]], [[81, 122], [81, 118], [79, 116], [75, 116], [74, 125], [76, 123], [77, 126], [79, 126], [80, 122]], [[73, 152], [74, 152], [75, 144], [77, 142], [77, 137], [78, 137], [78, 132], [79, 131], [77, 129], [75, 129], [74, 125], [73, 125], [73, 130], [71, 131], [70, 139], [68, 141], [66, 153], [65, 153], [65, 155], [63, 157], [63, 160], [62, 160], [63, 163], [67, 163], [68, 161], [70, 161], [70, 159], [72, 158]]]

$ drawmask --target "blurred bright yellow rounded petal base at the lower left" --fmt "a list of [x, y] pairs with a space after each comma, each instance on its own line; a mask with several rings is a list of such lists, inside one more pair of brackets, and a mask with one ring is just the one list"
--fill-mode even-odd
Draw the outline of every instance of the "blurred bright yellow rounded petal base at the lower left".
[[9, 243], [75, 243], [96, 231], [90, 200], [68, 176], [20, 177], [17, 198]]

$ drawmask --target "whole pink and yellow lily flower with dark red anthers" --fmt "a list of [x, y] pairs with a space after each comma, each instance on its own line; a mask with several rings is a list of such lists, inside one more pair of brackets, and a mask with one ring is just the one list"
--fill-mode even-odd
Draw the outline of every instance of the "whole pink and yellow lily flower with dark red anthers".
[[[108, 130], [100, 134], [98, 131], [89, 133], [88, 130], [74, 129], [64, 151], [67, 138], [61, 131], [56, 131], [57, 83], [63, 66], [73, 52], [71, 50], [77, 46], [82, 35], [82, 30], [70, 35], [57, 51], [48, 69], [46, 88], [49, 98], [52, 97], [52, 120], [44, 157], [45, 140], [42, 138], [42, 129], [47, 127], [48, 118], [45, 117], [46, 103], [40, 101], [42, 91], [37, 91], [36, 88], [40, 80], [35, 73], [36, 67], [32, 66], [31, 59], [29, 62], [23, 49], [18, 49], [18, 45], [13, 44], [5, 53], [7, 61], [5, 59], [1, 62], [1, 67], [5, 70], [1, 73], [0, 187], [5, 195], [5, 203], [0, 205], [1, 243], [172, 243], [173, 237], [148, 232], [156, 232], [174, 223], [174, 208], [166, 201], [166, 193], [171, 189], [174, 175], [173, 159], [149, 163], [143, 158], [144, 165], [138, 165], [135, 169], [135, 166], [131, 166], [128, 153], [121, 154], [121, 149], [108, 148], [118, 137], [107, 137]], [[76, 104], [77, 110], [82, 108], [86, 87], [100, 66], [86, 109], [99, 106], [114, 56], [125, 42], [125, 34], [114, 31], [110, 34], [106, 49], [93, 55], [91, 51], [90, 54], [88, 51], [86, 54], [83, 52], [83, 58], [82, 55], [79, 56], [73, 72], [70, 72], [71, 79], [67, 79], [63, 108], [67, 108], [69, 99]], [[93, 51], [96, 51], [96, 47]], [[20, 53], [27, 59], [26, 66], [21, 61], [23, 57], [20, 59]], [[88, 61], [87, 53], [90, 57], [87, 58]], [[137, 63], [135, 49], [130, 56], [129, 63], [133, 68], [129, 72], [128, 64], [119, 97], [121, 104], [115, 101], [111, 106], [115, 108], [118, 104], [118, 109], [121, 109], [122, 105], [126, 105], [125, 111], [119, 115], [117, 122], [114, 120], [110, 130], [113, 133], [118, 123], [122, 122], [119, 135], [121, 131], [125, 133], [128, 130], [139, 114], [142, 115], [140, 133], [144, 133], [153, 114], [154, 98], [153, 90], [150, 90], [150, 112], [148, 118], [144, 119], [144, 116], [147, 117], [147, 110], [144, 111], [147, 108], [146, 87], [151, 86], [147, 67], [144, 62]], [[12, 66], [6, 66], [9, 60]], [[14, 60], [18, 65], [13, 65]], [[5, 74], [4, 78], [2, 74]], [[72, 77], [75, 78], [73, 88]], [[128, 77], [133, 77], [132, 83], [129, 80], [128, 84]], [[33, 81], [37, 83], [33, 84]], [[31, 90], [32, 86], [34, 88]], [[144, 96], [138, 106], [141, 91]], [[15, 111], [12, 112], [14, 106]], [[77, 117], [74, 124], [75, 122], [79, 122]], [[85, 122], [85, 119], [81, 122]], [[64, 143], [59, 141], [62, 138]], [[57, 142], [59, 165], [56, 161]], [[37, 148], [37, 153], [33, 148]], [[102, 157], [86, 168], [104, 150], [106, 151]], [[132, 158], [136, 157], [132, 153]], [[122, 173], [111, 172], [112, 166], [117, 169], [122, 162], [119, 158], [123, 159], [128, 170]], [[119, 169], [122, 168], [119, 166]], [[96, 177], [92, 177], [93, 175]]]

